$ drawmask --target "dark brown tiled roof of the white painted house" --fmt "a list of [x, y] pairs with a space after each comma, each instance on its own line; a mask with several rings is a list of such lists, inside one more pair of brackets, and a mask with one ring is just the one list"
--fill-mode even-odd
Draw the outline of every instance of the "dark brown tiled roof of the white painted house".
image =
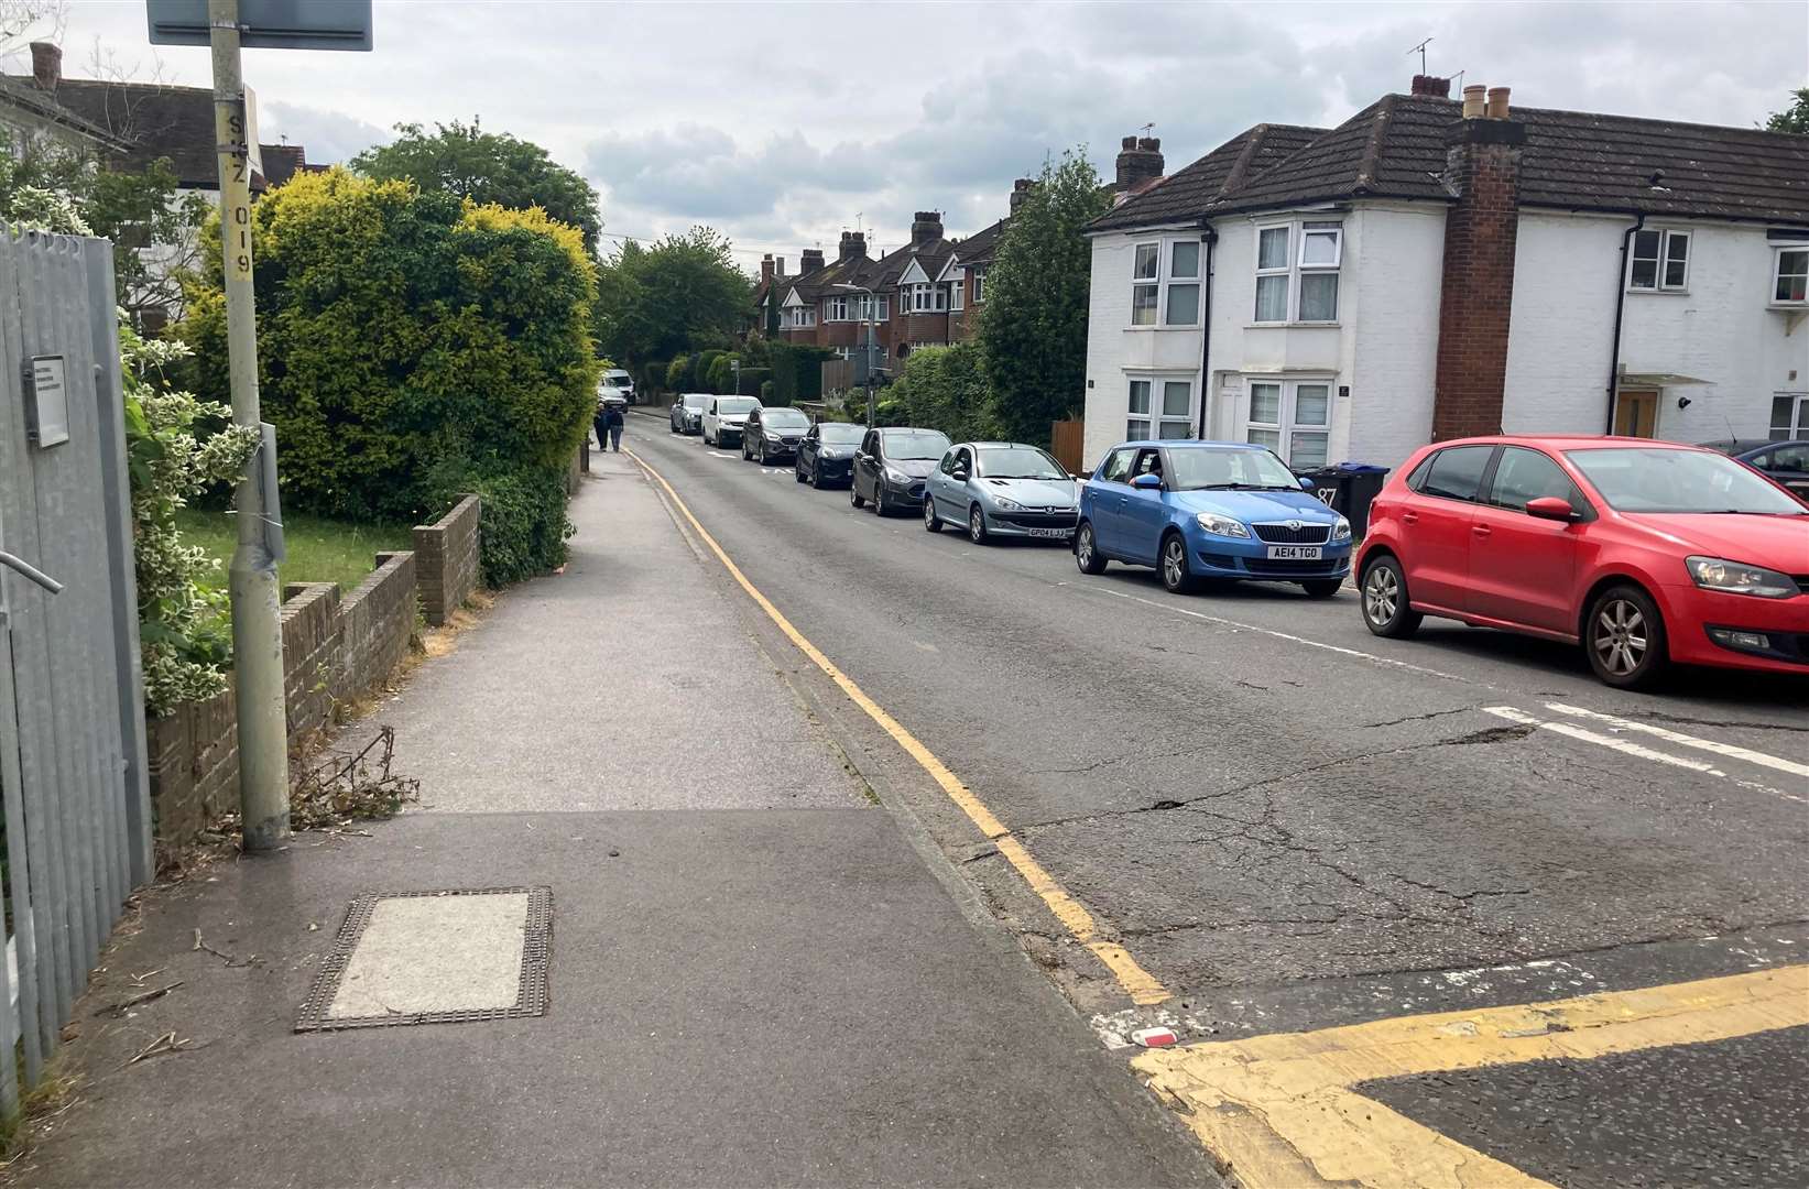
[[[1451, 201], [1444, 138], [1460, 118], [1454, 100], [1384, 96], [1266, 165], [1257, 147], [1239, 174], [1228, 161], [1264, 130], [1257, 125], [1091, 230], [1357, 197]], [[1809, 223], [1809, 138], [1549, 109], [1512, 118], [1527, 130], [1523, 206]]]

